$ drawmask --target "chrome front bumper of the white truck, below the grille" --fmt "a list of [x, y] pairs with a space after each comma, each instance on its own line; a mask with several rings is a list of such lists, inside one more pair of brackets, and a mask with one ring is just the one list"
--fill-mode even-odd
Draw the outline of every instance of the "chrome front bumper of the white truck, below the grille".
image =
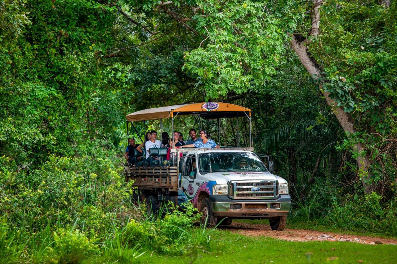
[[271, 200], [233, 200], [227, 195], [210, 195], [210, 202], [215, 216], [235, 219], [283, 216], [291, 208], [290, 195], [280, 195]]

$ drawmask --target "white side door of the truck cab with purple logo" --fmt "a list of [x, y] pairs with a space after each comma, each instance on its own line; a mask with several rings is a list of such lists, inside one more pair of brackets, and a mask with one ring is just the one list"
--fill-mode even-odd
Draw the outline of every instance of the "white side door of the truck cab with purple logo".
[[197, 156], [191, 154], [182, 163], [182, 183], [181, 187], [188, 199], [195, 197], [198, 187], [202, 184], [202, 179], [198, 173]]

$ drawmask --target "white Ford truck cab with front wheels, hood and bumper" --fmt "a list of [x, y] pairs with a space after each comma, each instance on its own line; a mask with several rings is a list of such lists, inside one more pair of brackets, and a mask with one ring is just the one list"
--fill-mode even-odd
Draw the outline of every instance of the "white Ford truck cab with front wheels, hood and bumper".
[[[291, 207], [288, 183], [243, 148], [195, 149], [183, 158], [178, 203], [191, 201], [210, 226], [268, 218], [282, 230]], [[222, 222], [221, 222], [222, 221]]]

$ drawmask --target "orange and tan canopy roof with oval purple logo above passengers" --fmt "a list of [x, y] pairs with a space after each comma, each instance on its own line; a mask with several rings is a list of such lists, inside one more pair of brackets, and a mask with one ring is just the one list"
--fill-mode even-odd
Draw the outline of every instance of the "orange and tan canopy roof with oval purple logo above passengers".
[[154, 120], [178, 115], [200, 115], [204, 119], [251, 116], [251, 109], [231, 103], [189, 103], [171, 105], [137, 111], [126, 115], [127, 121]]

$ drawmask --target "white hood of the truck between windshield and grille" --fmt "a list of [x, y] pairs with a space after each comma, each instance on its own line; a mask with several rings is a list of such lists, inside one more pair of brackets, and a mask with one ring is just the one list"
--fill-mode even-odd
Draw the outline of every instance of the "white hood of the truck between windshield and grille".
[[280, 176], [269, 172], [210, 172], [203, 176], [212, 178], [216, 184], [227, 184], [229, 181], [235, 180], [277, 180], [279, 183], [287, 183]]

